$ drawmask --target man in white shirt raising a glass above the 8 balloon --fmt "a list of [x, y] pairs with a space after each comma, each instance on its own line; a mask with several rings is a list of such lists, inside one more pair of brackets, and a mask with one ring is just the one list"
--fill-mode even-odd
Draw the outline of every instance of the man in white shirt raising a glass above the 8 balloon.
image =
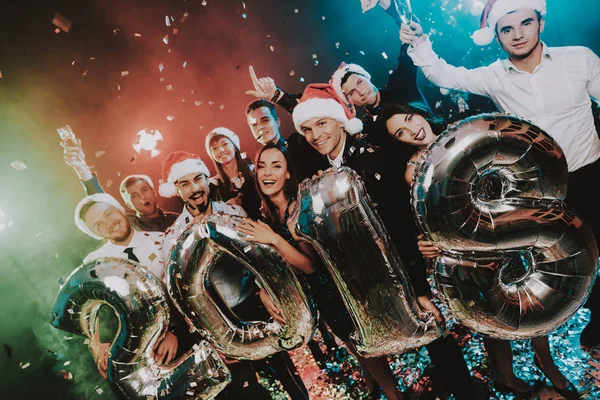
[[[533, 121], [565, 152], [569, 168], [567, 204], [600, 239], [600, 213], [591, 183], [600, 175], [600, 139], [594, 126], [591, 97], [600, 99], [600, 59], [585, 47], [548, 47], [540, 41], [545, 0], [489, 1], [473, 39], [489, 44], [494, 36], [508, 59], [466, 69], [434, 53], [420, 25], [403, 24], [400, 39], [425, 76], [440, 87], [489, 97], [499, 110]], [[592, 318], [581, 335], [586, 346], [600, 344], [598, 283], [586, 306]]]

